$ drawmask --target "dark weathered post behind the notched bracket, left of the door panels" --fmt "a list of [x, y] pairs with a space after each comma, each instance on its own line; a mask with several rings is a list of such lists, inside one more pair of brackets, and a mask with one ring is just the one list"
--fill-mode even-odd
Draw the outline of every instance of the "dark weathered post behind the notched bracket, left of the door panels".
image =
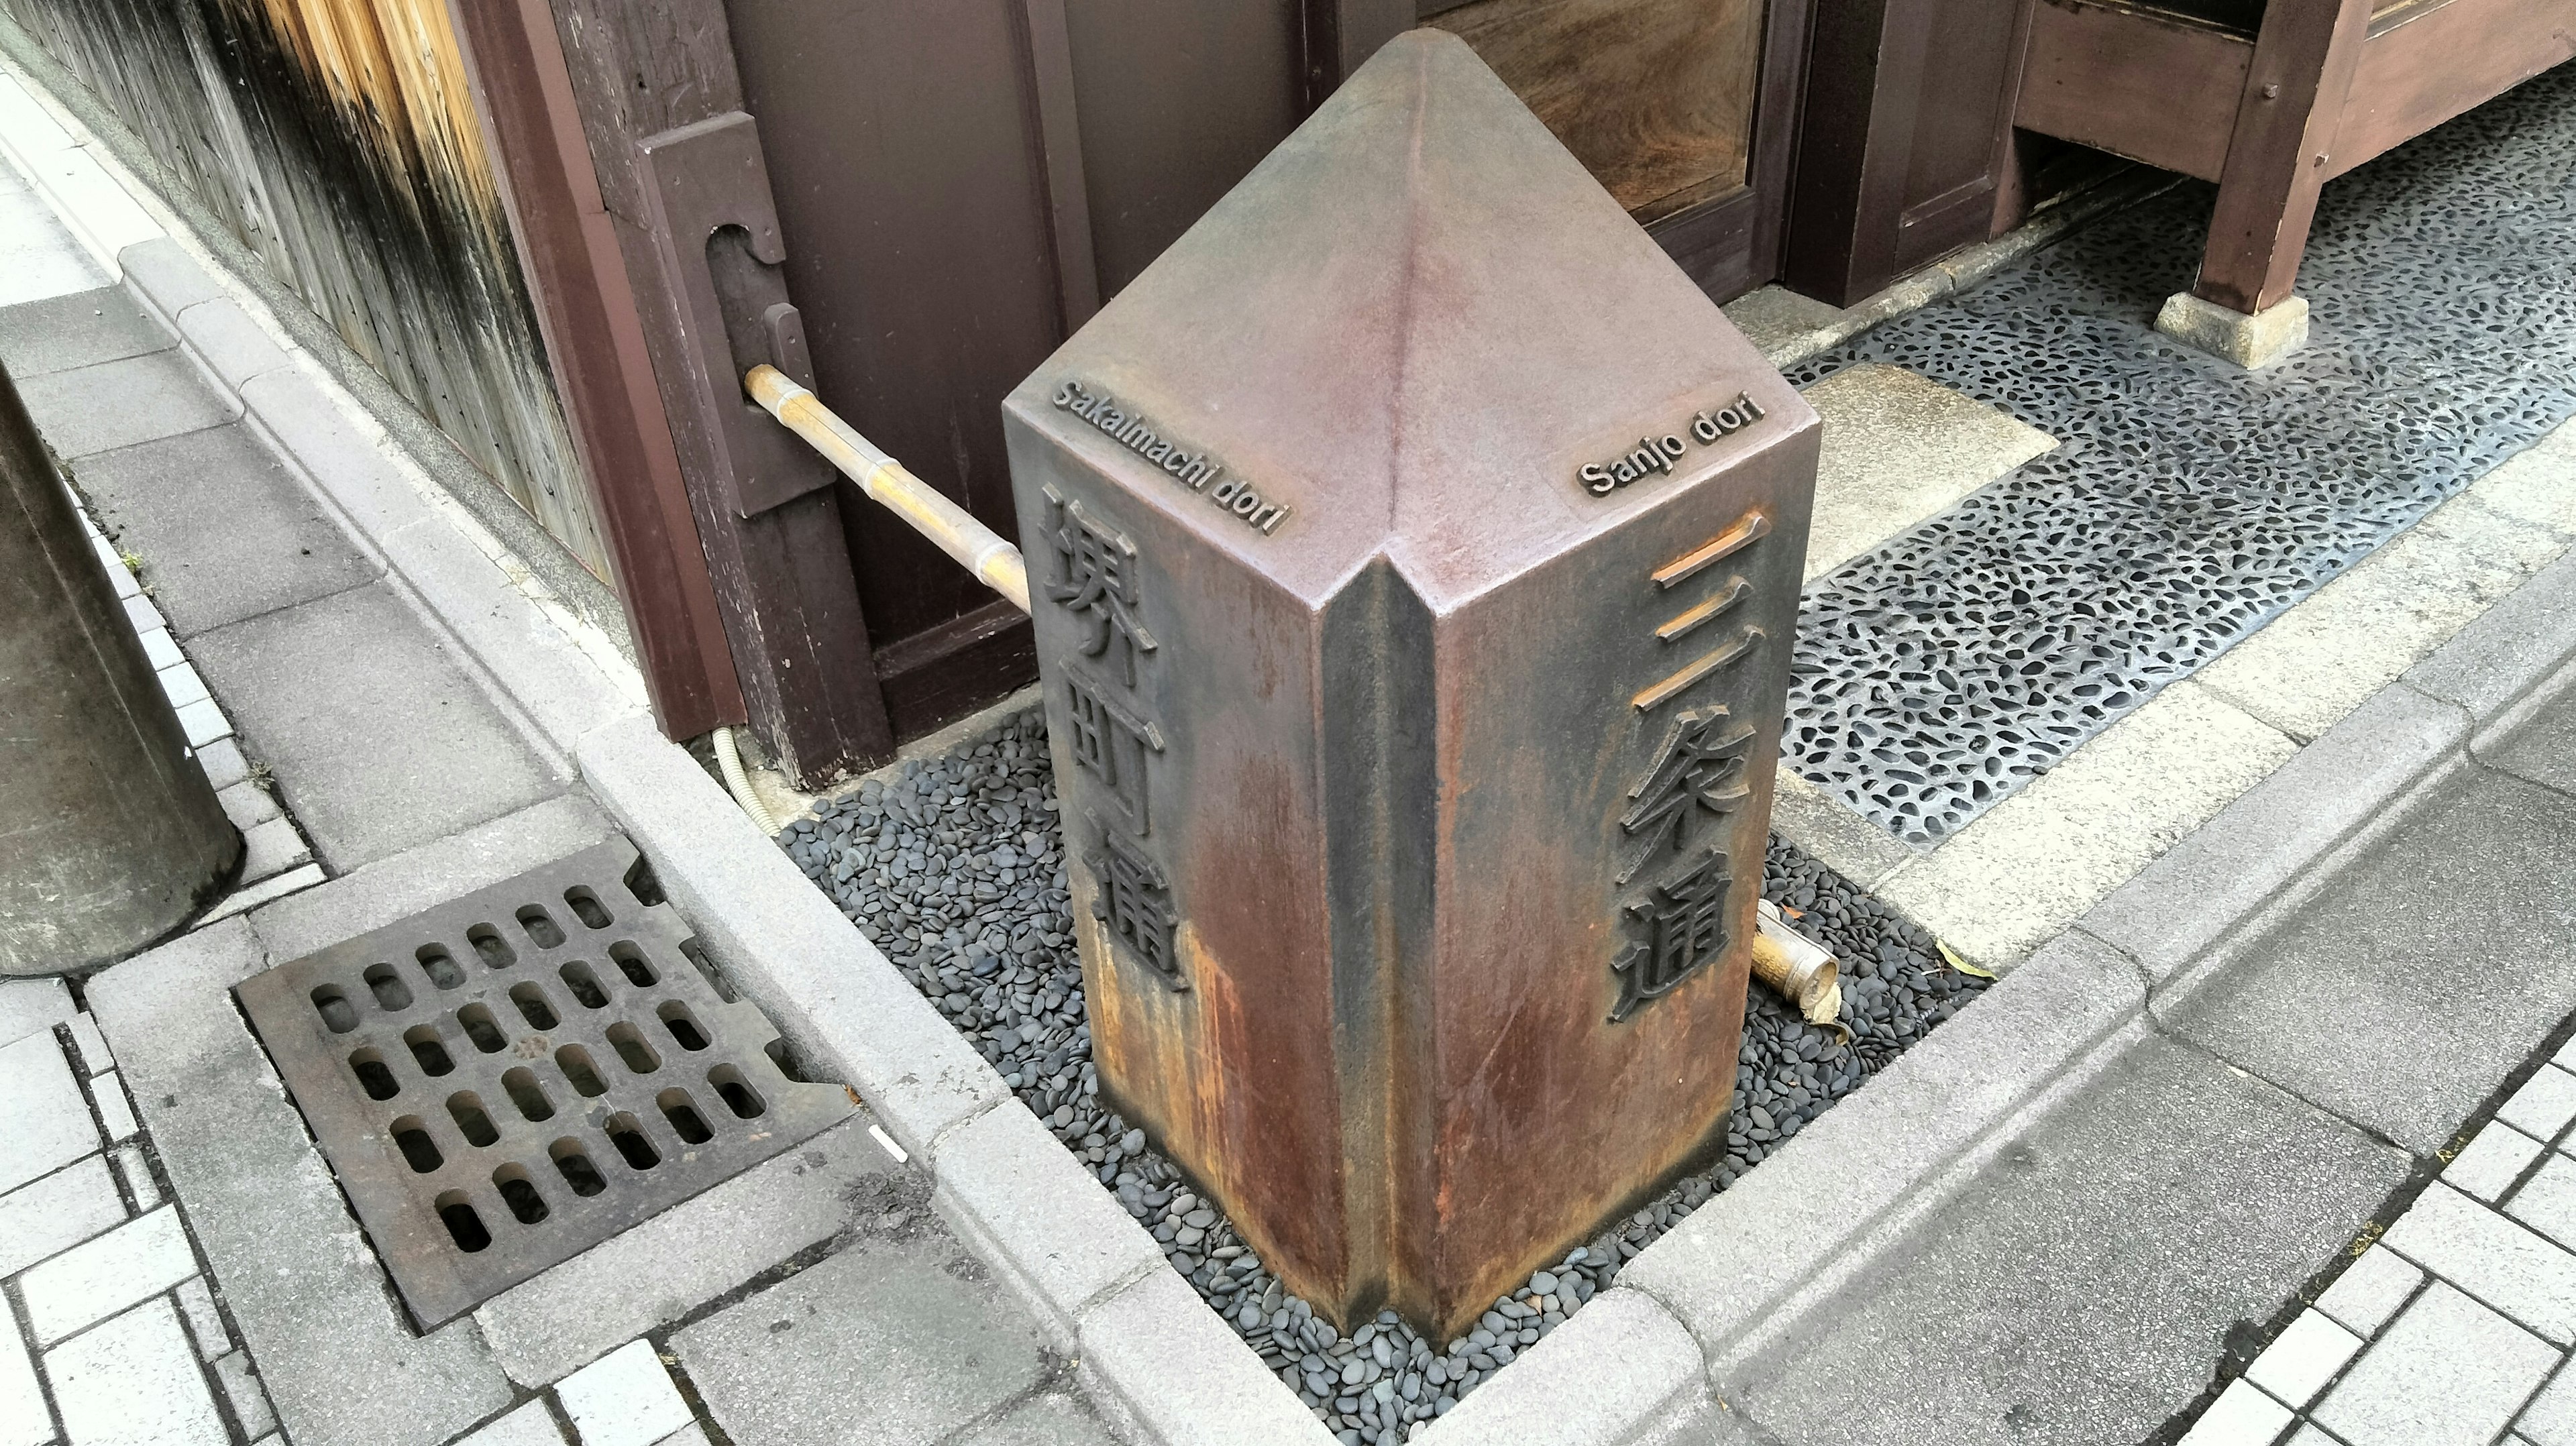
[[[544, 0], [590, 142], [608, 229], [634, 289], [665, 415], [696, 405], [680, 296], [654, 258], [636, 142], [742, 108], [721, 0]], [[703, 245], [703, 242], [690, 242]], [[804, 786], [894, 753], [835, 490], [739, 516], [675, 436], [752, 729]]]

